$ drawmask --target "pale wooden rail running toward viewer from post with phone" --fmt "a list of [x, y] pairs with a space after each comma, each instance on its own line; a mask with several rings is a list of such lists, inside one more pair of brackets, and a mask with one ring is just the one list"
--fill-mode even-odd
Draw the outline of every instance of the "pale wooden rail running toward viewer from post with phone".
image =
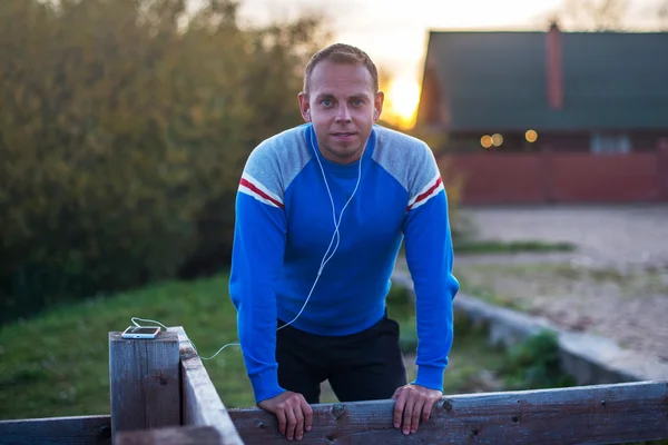
[[222, 444], [242, 445], [244, 442], [185, 330], [178, 326], [170, 327], [169, 332], [178, 334], [179, 338], [183, 424], [213, 426], [220, 434]]

